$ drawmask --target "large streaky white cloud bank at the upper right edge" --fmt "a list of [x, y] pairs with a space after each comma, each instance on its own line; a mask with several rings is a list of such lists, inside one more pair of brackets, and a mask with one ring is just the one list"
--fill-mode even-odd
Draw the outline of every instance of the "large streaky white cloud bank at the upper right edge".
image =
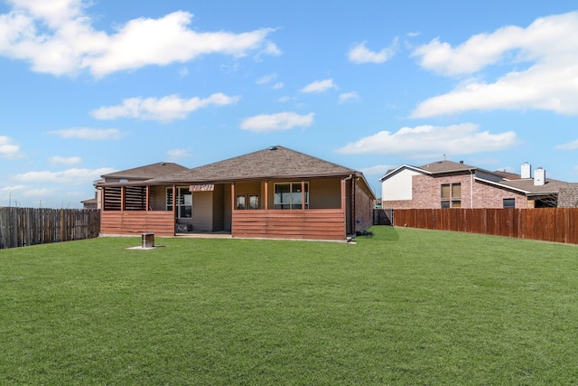
[[578, 12], [572, 12], [536, 19], [527, 28], [474, 35], [457, 47], [439, 39], [418, 47], [414, 55], [420, 64], [444, 76], [470, 76], [491, 65], [509, 72], [493, 82], [461, 82], [447, 94], [424, 100], [412, 117], [525, 108], [578, 115], [578, 40], [569, 38], [577, 34]]

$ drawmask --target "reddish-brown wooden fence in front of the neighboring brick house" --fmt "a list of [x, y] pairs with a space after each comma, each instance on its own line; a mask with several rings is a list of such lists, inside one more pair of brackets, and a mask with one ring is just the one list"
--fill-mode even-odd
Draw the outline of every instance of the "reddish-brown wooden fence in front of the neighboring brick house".
[[394, 226], [578, 244], [578, 208], [404, 209]]

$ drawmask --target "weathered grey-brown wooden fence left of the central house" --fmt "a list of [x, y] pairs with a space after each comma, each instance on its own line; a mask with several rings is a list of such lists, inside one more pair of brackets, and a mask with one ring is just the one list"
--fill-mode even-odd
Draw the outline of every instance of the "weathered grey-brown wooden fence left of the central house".
[[0, 249], [98, 237], [100, 211], [0, 208]]

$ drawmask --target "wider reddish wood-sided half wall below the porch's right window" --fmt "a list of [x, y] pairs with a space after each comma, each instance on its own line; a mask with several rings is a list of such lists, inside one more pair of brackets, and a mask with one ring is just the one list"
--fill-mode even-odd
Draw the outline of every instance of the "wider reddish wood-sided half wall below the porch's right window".
[[233, 211], [233, 237], [345, 240], [340, 209]]

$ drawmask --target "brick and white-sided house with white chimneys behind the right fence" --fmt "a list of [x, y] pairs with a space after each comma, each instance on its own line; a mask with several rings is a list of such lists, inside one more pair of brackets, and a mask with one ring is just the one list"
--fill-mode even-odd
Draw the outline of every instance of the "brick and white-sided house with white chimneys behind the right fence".
[[[578, 186], [546, 178], [543, 168], [532, 177], [527, 163], [512, 174], [452, 161], [401, 165], [379, 181], [382, 207], [392, 209], [556, 207], [559, 194]], [[572, 202], [572, 193], [565, 195]]]

